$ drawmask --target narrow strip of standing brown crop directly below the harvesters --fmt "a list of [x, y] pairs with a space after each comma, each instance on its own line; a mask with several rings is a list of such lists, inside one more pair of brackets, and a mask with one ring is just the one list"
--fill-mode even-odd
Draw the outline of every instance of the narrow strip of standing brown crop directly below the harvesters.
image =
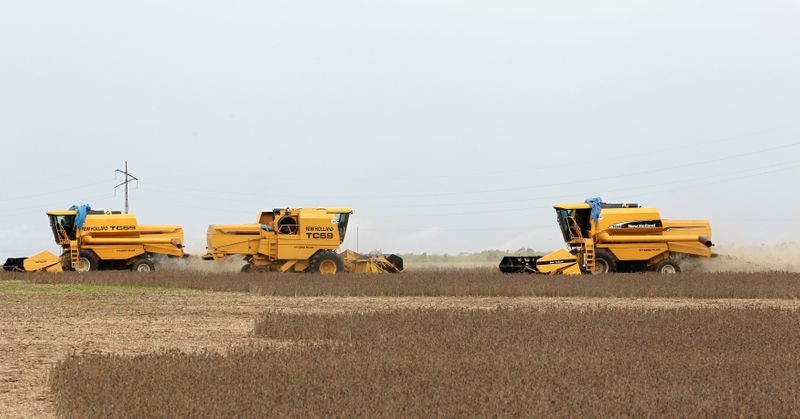
[[503, 275], [489, 270], [418, 271], [397, 275], [207, 274], [188, 271], [3, 274], [0, 279], [35, 284], [155, 286], [248, 292], [282, 297], [620, 297], [620, 298], [800, 298], [800, 274], [601, 276]]

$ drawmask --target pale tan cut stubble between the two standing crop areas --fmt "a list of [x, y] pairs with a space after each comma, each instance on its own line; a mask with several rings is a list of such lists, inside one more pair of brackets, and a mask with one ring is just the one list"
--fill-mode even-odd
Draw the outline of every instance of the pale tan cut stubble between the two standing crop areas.
[[800, 310], [795, 299], [606, 297], [270, 297], [140, 287], [80, 287], [0, 281], [0, 412], [52, 417], [50, 371], [70, 353], [148, 354], [264, 345], [255, 319], [267, 310], [340, 313], [397, 308], [574, 308], [576, 310], [731, 307]]

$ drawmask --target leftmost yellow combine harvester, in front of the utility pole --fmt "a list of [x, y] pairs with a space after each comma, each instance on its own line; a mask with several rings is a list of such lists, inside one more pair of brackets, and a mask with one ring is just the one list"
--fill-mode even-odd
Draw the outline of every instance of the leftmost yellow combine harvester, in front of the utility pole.
[[42, 252], [30, 258], [12, 258], [4, 265], [6, 270], [148, 272], [155, 269], [154, 255], [183, 256], [181, 226], [141, 225], [134, 215], [92, 211], [88, 206], [47, 215], [61, 256]]

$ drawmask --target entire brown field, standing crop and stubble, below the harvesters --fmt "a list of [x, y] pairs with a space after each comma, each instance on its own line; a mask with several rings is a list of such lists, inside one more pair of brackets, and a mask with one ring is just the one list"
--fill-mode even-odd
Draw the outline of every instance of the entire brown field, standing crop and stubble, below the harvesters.
[[2, 274], [0, 412], [800, 414], [800, 275], [335, 279]]

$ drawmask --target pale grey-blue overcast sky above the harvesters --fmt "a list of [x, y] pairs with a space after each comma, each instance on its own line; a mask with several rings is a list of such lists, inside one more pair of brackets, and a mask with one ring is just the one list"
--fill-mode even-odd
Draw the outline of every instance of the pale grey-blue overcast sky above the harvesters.
[[45, 212], [181, 224], [352, 207], [344, 248], [563, 246], [600, 196], [800, 234], [800, 3], [0, 1], [0, 258]]

